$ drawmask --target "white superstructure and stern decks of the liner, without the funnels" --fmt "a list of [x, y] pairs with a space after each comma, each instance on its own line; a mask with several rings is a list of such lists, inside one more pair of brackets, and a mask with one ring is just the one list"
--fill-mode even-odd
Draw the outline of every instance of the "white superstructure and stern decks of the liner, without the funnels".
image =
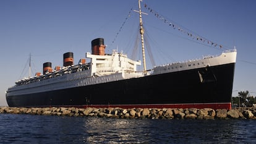
[[143, 76], [142, 72], [137, 72], [140, 61], [132, 61], [126, 54], [117, 51], [104, 56], [86, 53], [86, 57], [91, 59], [88, 64], [62, 67], [45, 75], [19, 80], [14, 87], [9, 88], [8, 95], [83, 87]]

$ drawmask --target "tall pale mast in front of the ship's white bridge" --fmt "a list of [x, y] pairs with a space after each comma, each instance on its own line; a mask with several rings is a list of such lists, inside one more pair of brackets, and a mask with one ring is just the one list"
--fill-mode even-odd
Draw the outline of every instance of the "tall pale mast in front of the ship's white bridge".
[[146, 58], [145, 58], [145, 48], [144, 48], [144, 28], [142, 25], [142, 10], [140, 9], [140, 1], [142, 0], [138, 0], [138, 1], [139, 1], [139, 15], [140, 15], [140, 37], [142, 40], [143, 73], [146, 74], [147, 69], [146, 69]]

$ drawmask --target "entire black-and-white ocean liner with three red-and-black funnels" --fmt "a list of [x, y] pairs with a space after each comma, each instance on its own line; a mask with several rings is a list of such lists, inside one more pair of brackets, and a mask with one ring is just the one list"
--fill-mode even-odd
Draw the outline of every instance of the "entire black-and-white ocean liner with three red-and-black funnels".
[[139, 0], [141, 61], [113, 50], [105, 53], [103, 38], [92, 40], [90, 62], [74, 65], [72, 52], [63, 55], [63, 67], [43, 64], [36, 73], [15, 82], [6, 91], [11, 107], [95, 108], [213, 108], [231, 109], [236, 49], [218, 56], [174, 62], [146, 69], [142, 12]]

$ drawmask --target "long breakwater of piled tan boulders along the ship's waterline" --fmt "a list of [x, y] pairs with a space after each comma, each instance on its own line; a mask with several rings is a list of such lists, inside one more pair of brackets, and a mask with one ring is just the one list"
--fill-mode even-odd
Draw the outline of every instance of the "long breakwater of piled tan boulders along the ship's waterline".
[[171, 109], [171, 108], [13, 108], [0, 107], [1, 114], [35, 114], [52, 116], [98, 116], [124, 119], [256, 119], [256, 108]]

